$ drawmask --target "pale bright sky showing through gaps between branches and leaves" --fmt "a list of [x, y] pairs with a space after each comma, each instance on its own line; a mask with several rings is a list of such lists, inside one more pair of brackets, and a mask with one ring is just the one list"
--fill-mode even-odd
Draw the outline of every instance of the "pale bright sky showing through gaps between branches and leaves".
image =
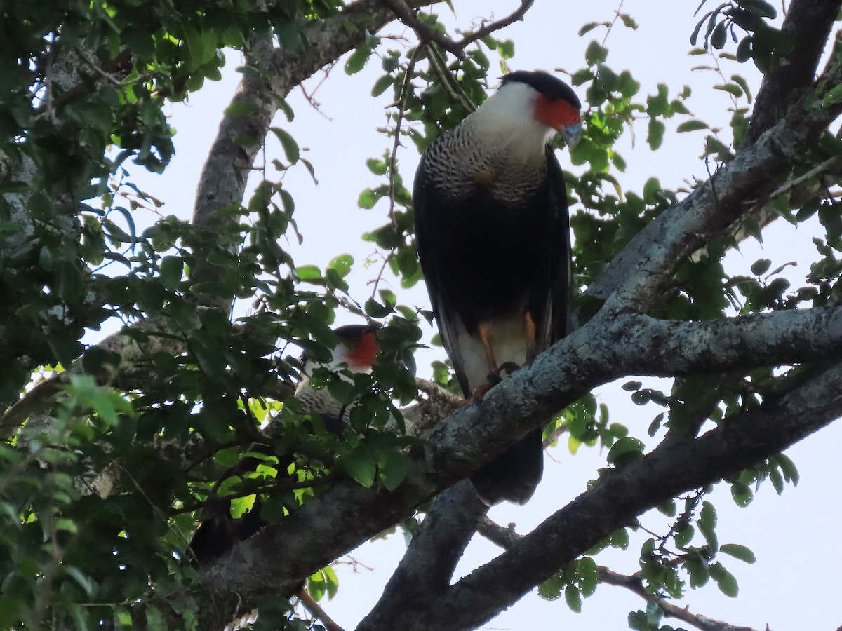
[[[448, 24], [471, 29], [478, 18], [501, 18], [520, 3], [517, 0], [456, 0], [453, 4], [456, 15], [444, 5], [436, 8], [437, 12]], [[690, 33], [698, 19], [693, 15], [698, 0], [626, 0], [624, 3], [620, 0], [590, 0], [588, 3], [537, 0], [523, 22], [498, 34], [503, 39], [514, 40], [515, 56], [509, 61], [511, 68], [573, 72], [584, 66], [585, 47], [594, 39], [601, 42], [605, 29], [594, 29], [581, 38], [578, 29], [589, 22], [610, 21], [619, 4], [622, 4], [621, 11], [631, 14], [640, 28], [631, 30], [620, 23], [615, 25], [605, 44], [609, 49], [607, 64], [616, 72], [630, 70], [641, 82], [641, 91], [635, 100], [644, 102], [646, 94], [657, 92], [660, 82], [669, 85], [671, 98], [685, 84], [690, 85], [693, 93], [686, 104], [694, 118], [705, 120], [714, 127], [727, 127], [731, 98], [712, 88], [721, 83], [722, 78], [715, 72], [692, 70], [694, 66], [711, 64], [712, 58], [687, 55], [691, 48]], [[706, 3], [702, 13], [714, 6], [716, 3]], [[383, 34], [412, 36], [397, 23], [388, 26]], [[399, 40], [384, 41], [381, 50], [405, 45]], [[174, 139], [176, 155], [167, 172], [157, 176], [138, 168], [132, 170], [133, 181], [142, 190], [164, 201], [161, 209], [164, 215], [189, 220], [192, 214], [200, 169], [216, 135], [221, 113], [230, 102], [239, 78], [235, 70], [240, 63], [238, 54], [229, 51], [226, 57], [221, 82], [207, 82], [199, 93], [190, 97], [189, 103], [175, 104], [168, 109], [170, 123], [177, 134]], [[358, 237], [385, 222], [386, 201], [381, 201], [374, 209], [363, 210], [357, 207], [357, 197], [364, 188], [381, 183], [381, 179], [365, 167], [365, 159], [380, 157], [392, 146], [391, 139], [376, 131], [386, 122], [386, 107], [391, 104], [392, 91], [387, 90], [381, 98], [370, 97], [370, 88], [382, 73], [377, 60], [372, 59], [362, 72], [352, 77], [344, 74], [343, 61], [333, 68], [324, 82], [320, 72], [305, 83], [308, 93], [318, 86], [314, 98], [320, 103], [320, 111], [313, 109], [296, 88], [287, 98], [295, 109], [295, 119], [289, 123], [281, 115], [275, 125], [289, 131], [301, 147], [307, 148], [303, 156], [316, 167], [318, 179], [316, 186], [303, 166], [294, 167], [285, 175], [284, 186], [296, 199], [296, 221], [305, 239], [301, 247], [296, 242], [285, 245], [290, 247], [296, 264], [314, 263], [321, 268], [337, 254], [351, 253], [356, 264], [349, 277], [350, 293], [354, 300], [362, 303], [371, 293], [368, 283], [376, 277], [381, 259], [372, 244], [360, 241]], [[759, 87], [759, 73], [750, 62], [729, 65], [724, 72], [726, 76], [734, 72], [743, 75], [754, 92]], [[584, 101], [584, 89], [578, 89], [578, 93]], [[668, 132], [659, 151], [651, 151], [645, 142], [645, 119], [635, 125], [633, 136], [624, 136], [617, 150], [628, 167], [626, 172], [611, 171], [624, 189], [640, 192], [650, 177], [659, 178], [663, 188], [673, 189], [686, 189], [694, 178], [707, 178], [706, 165], [700, 157], [705, 132], [669, 133], [682, 120], [684, 118], [677, 117], [668, 121]], [[727, 130], [724, 137], [727, 138]], [[559, 151], [558, 155], [566, 170], [582, 171], [582, 167], [571, 166], [566, 151]], [[266, 156], [269, 169], [272, 169], [271, 158], [282, 156], [274, 136], [267, 141]], [[409, 180], [418, 161], [414, 146], [405, 146], [398, 159], [403, 177]], [[274, 177], [275, 174], [269, 172], [269, 179]], [[257, 181], [255, 174], [254, 182]], [[571, 210], [575, 212], [576, 208]], [[141, 227], [152, 220], [154, 215], [151, 213], [144, 215], [141, 211], [136, 216]], [[818, 231], [817, 225], [809, 222], [797, 228], [776, 222], [765, 233], [764, 244], [749, 240], [741, 245], [740, 252], [729, 254], [727, 268], [731, 273], [749, 273], [750, 265], [759, 257], [772, 259], [772, 268], [784, 262], [798, 261], [797, 267], [786, 269], [786, 276], [795, 289], [803, 284], [809, 262], [815, 258], [811, 242], [814, 231]], [[365, 266], [363, 262], [369, 257], [375, 262]], [[429, 308], [423, 284], [411, 291], [402, 290], [396, 279], [386, 273], [382, 287], [393, 289], [402, 304]], [[247, 310], [248, 304], [241, 304], [239, 308]], [[359, 319], [350, 314], [338, 316], [338, 324], [353, 321]], [[429, 338], [434, 331], [427, 329]], [[444, 359], [444, 351], [434, 348], [419, 354], [418, 376], [430, 376], [429, 362], [433, 359]], [[666, 380], [645, 379], [644, 382], [669, 390]], [[632, 405], [627, 393], [622, 393], [616, 385], [600, 388], [597, 394], [601, 402], [610, 406], [611, 420], [626, 424], [638, 437], [646, 437], [649, 423], [662, 411], [652, 404]], [[797, 488], [787, 485], [781, 497], [767, 482], [756, 492], [754, 502], [748, 508], [738, 508], [730, 499], [727, 486], [717, 488], [711, 499], [719, 514], [719, 543], [748, 545], [757, 555], [758, 562], [746, 565], [720, 555], [719, 560], [739, 581], [739, 597], [723, 596], [711, 581], [701, 590], [688, 590], [685, 600], [679, 603], [681, 606], [689, 606], [691, 612], [757, 629], [764, 629], [768, 623], [773, 631], [835, 629], [842, 624], [842, 603], [838, 595], [842, 551], [834, 543], [842, 517], [836, 484], [837, 445], [840, 443], [842, 427], [837, 423], [791, 448], [787, 453], [796, 462], [802, 479]], [[655, 441], [650, 439], [647, 448], [654, 446]], [[595, 477], [596, 469], [605, 465], [605, 455], [599, 448], [582, 448], [573, 457], [562, 441], [558, 448], [547, 453], [544, 482], [536, 496], [522, 507], [495, 506], [489, 516], [502, 524], [514, 522], [519, 533], [529, 532], [584, 491], [588, 480]], [[663, 518], [657, 514], [647, 515], [642, 521], [647, 528], [658, 532], [666, 530]], [[645, 533], [633, 534], [630, 549], [625, 553], [608, 550], [595, 559], [600, 565], [631, 574], [639, 569], [638, 551], [647, 537]], [[328, 614], [343, 628], [354, 628], [380, 597], [382, 586], [404, 549], [402, 537], [396, 535], [355, 550], [354, 559], [374, 570], [360, 569], [354, 573], [348, 565], [338, 566], [338, 596], [331, 602], [322, 602]], [[496, 554], [498, 549], [492, 544], [475, 538], [457, 574], [468, 573]], [[579, 614], [571, 612], [563, 599], [546, 602], [533, 592], [483, 628], [515, 631], [529, 628], [623, 629], [627, 628], [627, 613], [643, 608], [645, 602], [619, 587], [600, 586], [593, 597], [584, 600], [583, 612]], [[669, 619], [665, 623], [682, 626]]]

